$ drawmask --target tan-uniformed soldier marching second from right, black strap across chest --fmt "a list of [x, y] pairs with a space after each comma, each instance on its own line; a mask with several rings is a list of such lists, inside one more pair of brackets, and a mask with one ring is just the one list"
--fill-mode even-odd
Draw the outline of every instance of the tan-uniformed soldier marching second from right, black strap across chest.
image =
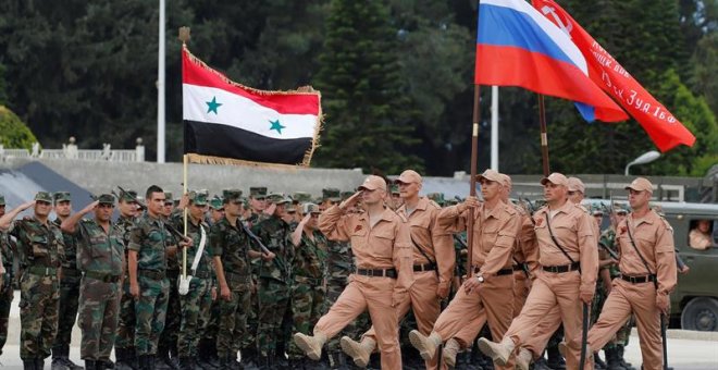
[[[568, 180], [552, 173], [541, 181], [547, 206], [533, 217], [540, 248], [538, 271], [521, 313], [513, 320], [500, 343], [479, 340], [479, 348], [495, 362], [507, 363], [513, 349], [534, 333], [537, 322], [557, 305], [566, 337], [580, 342], [581, 304], [593, 299], [598, 273], [598, 251], [591, 215], [568, 201]], [[522, 349], [520, 357], [530, 357]], [[530, 358], [529, 358], [530, 359]], [[571, 348], [567, 367], [578, 369], [580, 348]], [[593, 361], [591, 361], [593, 363]]]

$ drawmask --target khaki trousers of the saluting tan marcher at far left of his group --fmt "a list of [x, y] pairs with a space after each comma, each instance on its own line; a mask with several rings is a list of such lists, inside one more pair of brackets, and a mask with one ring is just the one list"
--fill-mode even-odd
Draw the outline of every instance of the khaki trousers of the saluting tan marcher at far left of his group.
[[317, 322], [314, 334], [321, 332], [329, 340], [368, 309], [382, 355], [382, 369], [400, 370], [399, 325], [396, 309], [392, 307], [395, 282], [391, 278], [351, 274], [349, 285]]

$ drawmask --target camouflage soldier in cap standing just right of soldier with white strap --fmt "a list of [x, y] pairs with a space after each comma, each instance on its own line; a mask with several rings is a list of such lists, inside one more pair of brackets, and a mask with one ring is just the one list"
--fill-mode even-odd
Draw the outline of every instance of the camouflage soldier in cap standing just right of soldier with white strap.
[[[220, 285], [220, 317], [216, 334], [216, 351], [223, 369], [237, 368], [237, 350], [243, 348], [242, 338], [248, 336], [247, 313], [253, 284], [250, 259], [259, 252], [250, 250], [249, 235], [239, 220], [244, 205], [242, 192], [228, 189], [224, 195], [224, 219], [212, 225], [210, 232], [211, 255]], [[242, 361], [247, 365], [243, 350]]]

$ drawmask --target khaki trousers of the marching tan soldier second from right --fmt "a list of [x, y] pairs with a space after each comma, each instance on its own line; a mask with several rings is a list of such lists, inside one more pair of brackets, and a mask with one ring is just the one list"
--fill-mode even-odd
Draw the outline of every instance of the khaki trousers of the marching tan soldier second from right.
[[[581, 275], [578, 271], [565, 273], [552, 273], [541, 271], [533, 282], [527, 303], [513, 322], [506, 332], [518, 346], [523, 346], [530, 342], [536, 334], [550, 336], [555, 330], [542, 331], [536, 333], [536, 324], [542, 325], [546, 321], [547, 325], [556, 324], [547, 320], [546, 316], [552, 310], [558, 308], [560, 320], [564, 322], [564, 331], [567, 343], [581, 343], [581, 323], [583, 311], [581, 300], [579, 299], [579, 286]], [[496, 338], [494, 341], [497, 342]], [[569, 354], [566, 357], [568, 369], [578, 369], [581, 356], [581, 347], [569, 346]], [[584, 369], [590, 370], [593, 361], [586, 361]]]

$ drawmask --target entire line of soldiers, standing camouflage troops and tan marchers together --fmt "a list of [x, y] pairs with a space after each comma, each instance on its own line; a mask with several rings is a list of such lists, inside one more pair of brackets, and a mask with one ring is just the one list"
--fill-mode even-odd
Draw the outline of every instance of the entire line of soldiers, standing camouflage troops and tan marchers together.
[[[81, 356], [88, 369], [110, 368], [113, 345], [115, 368], [160, 368], [159, 355], [178, 359], [168, 361], [170, 367], [194, 369], [208, 354], [219, 362], [203, 362], [205, 368], [322, 368], [304, 355], [325, 359], [326, 345], [327, 367], [347, 366], [336, 356], [341, 346], [359, 367], [377, 350], [383, 369], [401, 369], [398, 324], [409, 309], [418, 325], [409, 338], [426, 368], [455, 366], [457, 354], [487, 324], [496, 342], [478, 343], [494, 366], [528, 369], [562, 323], [567, 366], [577, 369], [581, 305], [592, 303], [598, 275], [597, 224], [568, 201], [569, 181], [561, 174], [542, 180], [546, 206], [533, 215], [508, 200], [509, 176], [487, 170], [479, 181], [482, 201], [468, 197], [443, 209], [419, 196], [422, 180], [411, 170], [396, 181], [403, 200], [396, 209], [386, 207], [395, 203], [377, 176], [341, 202], [306, 202], [294, 214], [287, 212], [292, 199], [267, 197], [265, 188], [250, 189], [249, 199], [225, 190], [224, 214], [212, 207], [216, 218], [210, 220], [207, 194], [191, 192], [172, 210], [165, 193], [152, 186], [140, 214], [135, 214], [136, 193], [122, 190], [116, 222], [111, 221], [115, 197], [106, 194], [54, 226], [47, 222], [52, 197], [38, 194], [0, 218], [0, 229], [17, 242], [24, 271], [21, 357], [26, 369], [41, 369], [51, 349], [53, 365], [61, 359], [72, 368], [67, 349], [53, 345], [58, 317], [69, 316], [60, 312], [58, 280], [64, 283], [67, 274], [61, 270], [72, 270], [63, 263], [73, 260], [67, 257], [72, 236], [82, 275]], [[587, 333], [585, 369], [593, 367], [593, 350], [610, 342], [631, 313], [644, 369], [660, 368], [659, 312], [667, 311], [676, 284], [672, 235], [647, 208], [651, 184], [637, 178], [627, 189], [633, 212], [616, 229], [620, 279]], [[32, 218], [16, 219], [29, 207]], [[457, 278], [454, 237], [467, 231], [470, 210], [472, 268], [442, 311]], [[95, 215], [84, 220], [90, 212]], [[187, 279], [178, 272], [183, 248]], [[372, 326], [360, 333], [356, 319], [364, 311]], [[289, 331], [294, 341], [287, 341]], [[341, 332], [347, 336], [331, 341]]]

